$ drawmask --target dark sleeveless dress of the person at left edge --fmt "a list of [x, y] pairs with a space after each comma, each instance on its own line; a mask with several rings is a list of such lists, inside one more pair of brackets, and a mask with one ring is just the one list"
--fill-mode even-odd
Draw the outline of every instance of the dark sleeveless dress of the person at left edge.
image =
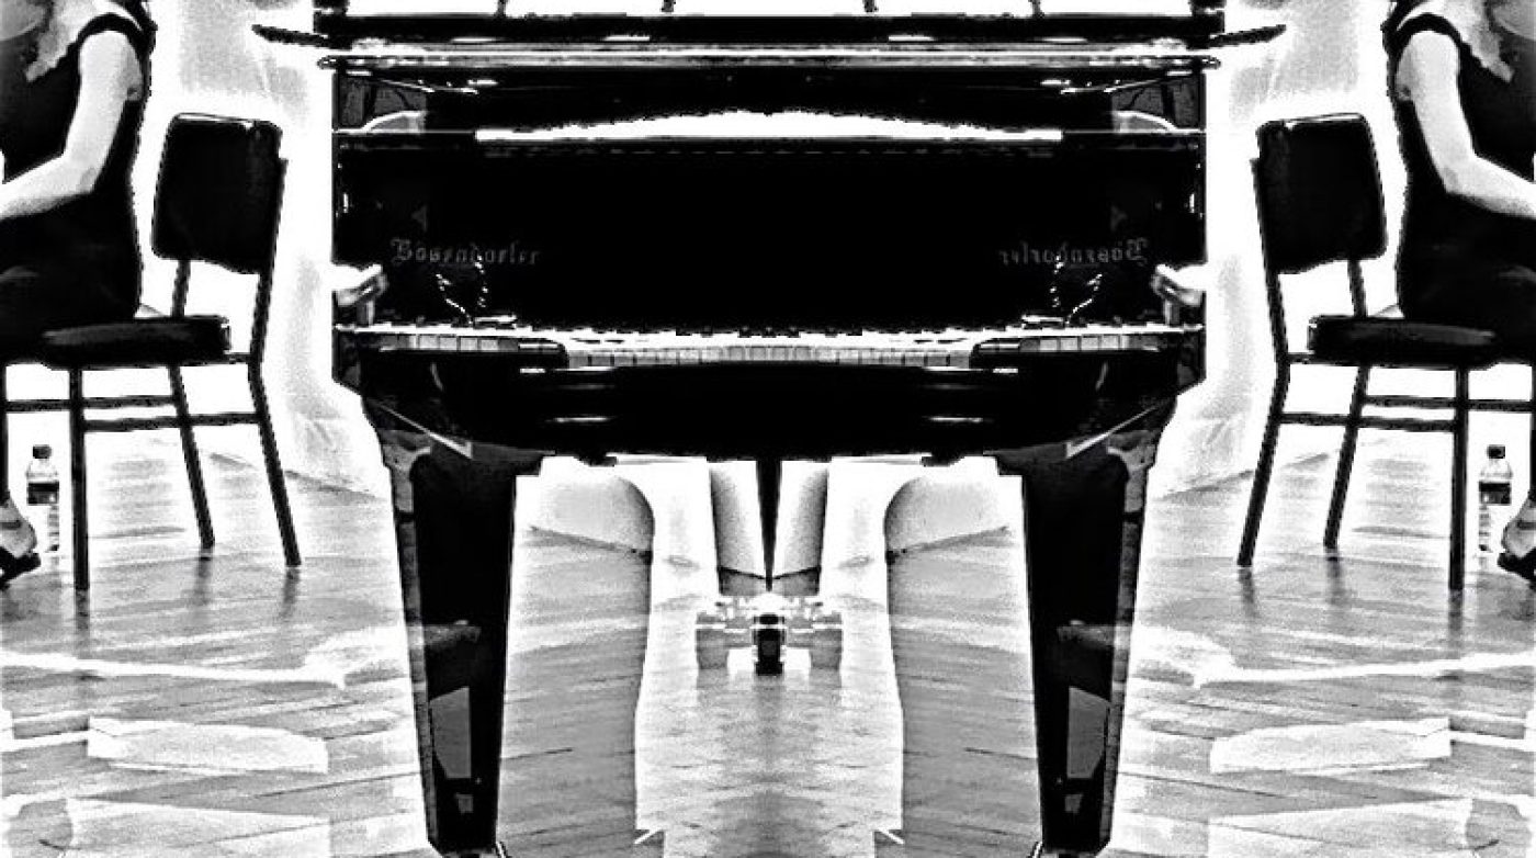
[[80, 98], [81, 46], [104, 32], [120, 32], [132, 45], [144, 92], [123, 106], [95, 187], [48, 212], [0, 221], [0, 273], [18, 267], [37, 272], [49, 281], [49, 295], [71, 304], [66, 315], [80, 322], [127, 318], [138, 307], [143, 269], [129, 178], [149, 89], [152, 34], [121, 15], [100, 15], [35, 80], [25, 72], [29, 58], [23, 48], [31, 34], [0, 41], [0, 152], [9, 180], [63, 152]]

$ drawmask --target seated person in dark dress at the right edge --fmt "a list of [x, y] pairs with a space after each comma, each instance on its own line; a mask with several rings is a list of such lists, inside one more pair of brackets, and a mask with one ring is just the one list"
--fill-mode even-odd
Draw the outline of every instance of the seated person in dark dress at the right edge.
[[[1384, 31], [1409, 178], [1402, 313], [1536, 358], [1536, 5], [1398, 0]], [[1502, 542], [1499, 565], [1536, 582], [1536, 494]]]

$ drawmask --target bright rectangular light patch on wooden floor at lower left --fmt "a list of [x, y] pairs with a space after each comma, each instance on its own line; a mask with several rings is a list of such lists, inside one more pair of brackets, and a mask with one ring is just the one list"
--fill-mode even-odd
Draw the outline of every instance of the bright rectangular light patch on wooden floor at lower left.
[[86, 755], [146, 769], [316, 774], [330, 769], [319, 738], [240, 724], [91, 718]]

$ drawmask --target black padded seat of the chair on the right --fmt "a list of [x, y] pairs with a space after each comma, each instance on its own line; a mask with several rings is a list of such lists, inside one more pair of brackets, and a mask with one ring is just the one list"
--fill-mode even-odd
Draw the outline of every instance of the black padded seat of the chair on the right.
[[1485, 367], [1502, 356], [1485, 330], [1381, 316], [1318, 316], [1307, 344], [1313, 358], [1341, 364]]

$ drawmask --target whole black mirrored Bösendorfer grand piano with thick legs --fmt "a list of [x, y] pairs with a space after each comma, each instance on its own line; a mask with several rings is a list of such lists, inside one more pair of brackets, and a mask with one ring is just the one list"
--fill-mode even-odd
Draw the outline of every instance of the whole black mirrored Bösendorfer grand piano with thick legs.
[[773, 569], [785, 460], [922, 453], [1021, 477], [1018, 810], [1037, 855], [1098, 853], [1147, 473], [1204, 373], [1172, 273], [1206, 258], [1206, 75], [1269, 34], [1221, 0], [656, 2], [316, 0], [312, 31], [261, 28], [324, 54], [333, 258], [375, 272], [336, 298], [335, 378], [395, 480], [429, 838], [508, 849], [518, 476], [756, 460]]

